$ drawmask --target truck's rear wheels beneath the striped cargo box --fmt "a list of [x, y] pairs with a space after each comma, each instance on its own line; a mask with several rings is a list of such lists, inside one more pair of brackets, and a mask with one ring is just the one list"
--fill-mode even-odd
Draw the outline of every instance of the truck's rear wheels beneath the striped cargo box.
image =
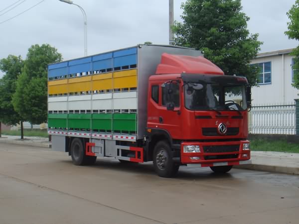
[[72, 161], [77, 166], [92, 165], [96, 162], [96, 156], [87, 156], [85, 147], [80, 138], [74, 138], [71, 144]]

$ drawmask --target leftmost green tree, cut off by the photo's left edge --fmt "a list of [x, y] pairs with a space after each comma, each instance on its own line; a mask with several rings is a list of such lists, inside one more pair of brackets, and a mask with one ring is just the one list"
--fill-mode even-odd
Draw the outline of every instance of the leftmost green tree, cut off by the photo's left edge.
[[[8, 55], [7, 58], [0, 60], [0, 70], [5, 73], [0, 79], [0, 122], [5, 124], [15, 125], [23, 121], [22, 116], [14, 110], [12, 105], [16, 80], [21, 74], [23, 64], [21, 56]], [[21, 133], [23, 133], [22, 130]]]

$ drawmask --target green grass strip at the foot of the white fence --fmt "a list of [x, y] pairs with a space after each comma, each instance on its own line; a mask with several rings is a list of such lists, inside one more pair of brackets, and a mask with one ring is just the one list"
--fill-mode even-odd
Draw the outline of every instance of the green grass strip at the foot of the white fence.
[[250, 140], [250, 149], [253, 151], [295, 152], [299, 153], [299, 144], [287, 140]]

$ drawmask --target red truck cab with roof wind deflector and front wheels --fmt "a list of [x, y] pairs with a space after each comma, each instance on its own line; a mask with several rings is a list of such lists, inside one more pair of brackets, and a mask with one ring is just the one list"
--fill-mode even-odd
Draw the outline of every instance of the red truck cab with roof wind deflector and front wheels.
[[250, 163], [247, 79], [226, 76], [203, 57], [162, 54], [149, 77], [146, 138], [155, 171], [173, 176], [179, 165], [228, 172]]

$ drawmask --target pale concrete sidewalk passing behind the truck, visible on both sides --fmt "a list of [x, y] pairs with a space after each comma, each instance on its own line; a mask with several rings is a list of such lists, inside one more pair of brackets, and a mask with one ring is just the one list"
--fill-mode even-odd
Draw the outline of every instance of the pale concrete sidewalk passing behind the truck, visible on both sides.
[[[48, 138], [25, 137], [24, 140], [19, 138], [19, 136], [2, 135], [0, 142], [45, 148], [51, 145]], [[236, 166], [236, 168], [299, 175], [298, 153], [251, 151], [251, 160], [252, 164]]]

